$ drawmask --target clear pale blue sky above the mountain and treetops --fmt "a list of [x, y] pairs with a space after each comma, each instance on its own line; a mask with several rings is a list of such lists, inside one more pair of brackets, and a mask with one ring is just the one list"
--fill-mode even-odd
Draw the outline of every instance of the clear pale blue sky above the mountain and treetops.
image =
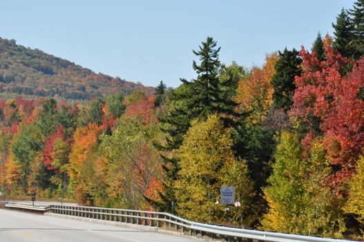
[[311, 47], [354, 0], [23, 0], [0, 2], [0, 37], [122, 79], [179, 86], [196, 77], [207, 36], [220, 60], [260, 66], [265, 54]]

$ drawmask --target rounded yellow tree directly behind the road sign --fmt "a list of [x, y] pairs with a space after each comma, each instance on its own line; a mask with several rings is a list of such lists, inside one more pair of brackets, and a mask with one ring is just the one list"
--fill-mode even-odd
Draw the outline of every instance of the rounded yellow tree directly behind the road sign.
[[246, 201], [253, 196], [247, 177], [247, 165], [237, 160], [231, 150], [229, 131], [224, 129], [216, 115], [206, 122], [194, 120], [184, 142], [176, 152], [180, 158], [177, 189], [177, 211], [193, 221], [221, 222], [224, 205], [220, 200], [220, 187], [236, 186], [236, 198], [243, 204], [234, 218], [238, 222], [248, 210]]

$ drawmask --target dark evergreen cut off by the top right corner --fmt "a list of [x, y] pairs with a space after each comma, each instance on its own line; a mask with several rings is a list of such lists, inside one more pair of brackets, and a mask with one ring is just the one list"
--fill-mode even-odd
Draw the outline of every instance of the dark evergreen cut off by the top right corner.
[[349, 14], [354, 26], [354, 58], [359, 59], [364, 55], [364, 0], [357, 0]]

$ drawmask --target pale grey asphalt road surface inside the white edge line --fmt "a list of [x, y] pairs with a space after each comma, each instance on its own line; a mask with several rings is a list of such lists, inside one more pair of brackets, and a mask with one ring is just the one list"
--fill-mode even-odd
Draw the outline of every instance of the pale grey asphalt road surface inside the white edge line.
[[19, 241], [192, 242], [197, 240], [55, 216], [0, 210], [0, 242]]

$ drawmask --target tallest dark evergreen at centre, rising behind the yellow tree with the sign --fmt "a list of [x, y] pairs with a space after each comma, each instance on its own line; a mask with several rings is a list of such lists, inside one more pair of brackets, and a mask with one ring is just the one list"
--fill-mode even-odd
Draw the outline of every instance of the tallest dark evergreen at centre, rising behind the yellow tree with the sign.
[[[176, 156], [164, 156], [164, 151], [170, 153], [178, 149], [184, 139], [184, 134], [190, 127], [194, 118], [206, 120], [208, 115], [217, 113], [224, 115], [224, 120], [231, 120], [236, 115], [235, 106], [231, 96], [230, 86], [234, 81], [234, 75], [227, 75], [220, 80], [220, 47], [212, 37], [202, 42], [200, 50], [193, 53], [200, 59], [200, 65], [193, 61], [193, 69], [198, 74], [197, 79], [188, 82], [181, 79], [182, 85], [173, 91], [171, 104], [169, 104], [166, 117], [162, 120], [162, 131], [166, 133], [167, 144], [157, 145], [164, 159], [163, 169], [165, 175], [164, 193], [160, 192], [162, 202], [150, 201], [158, 210], [170, 212], [172, 202], [175, 202], [174, 183], [178, 178], [180, 169]], [[237, 85], [237, 81], [236, 84]], [[229, 87], [230, 86], [230, 87]], [[230, 93], [230, 95], [229, 95]], [[228, 124], [228, 122], [225, 122]]]

